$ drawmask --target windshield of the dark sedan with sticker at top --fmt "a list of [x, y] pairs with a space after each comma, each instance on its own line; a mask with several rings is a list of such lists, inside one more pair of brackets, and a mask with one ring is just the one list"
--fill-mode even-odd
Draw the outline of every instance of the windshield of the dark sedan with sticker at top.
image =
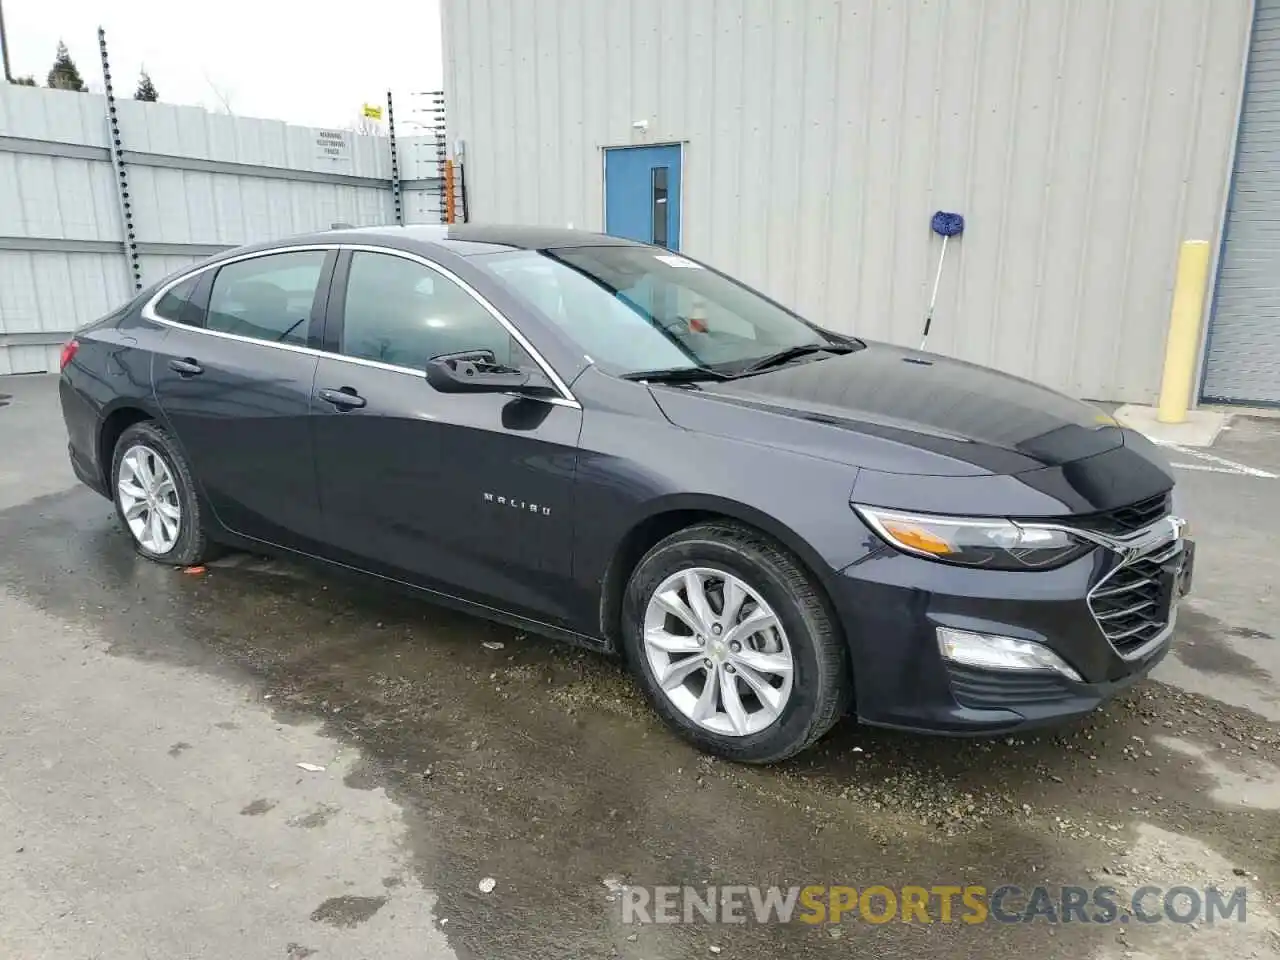
[[521, 250], [474, 262], [622, 376], [741, 372], [783, 351], [833, 343], [736, 280], [657, 247]]

